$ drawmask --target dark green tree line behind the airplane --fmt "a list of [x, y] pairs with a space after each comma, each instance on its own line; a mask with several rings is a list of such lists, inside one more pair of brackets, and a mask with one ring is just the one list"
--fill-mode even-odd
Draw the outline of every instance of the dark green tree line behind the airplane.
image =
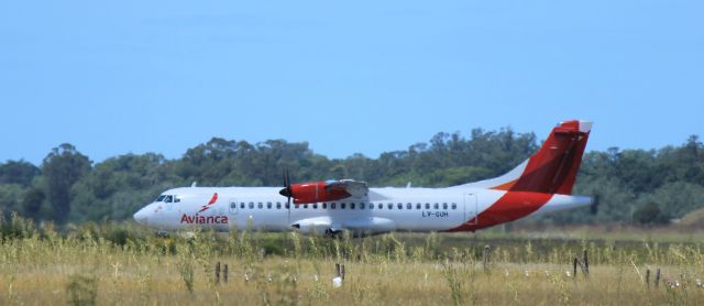
[[[328, 159], [307, 142], [261, 143], [213, 138], [180, 159], [124, 154], [95, 163], [64, 143], [40, 165], [0, 163], [0, 210], [35, 221], [125, 220], [161, 192], [198, 182], [200, 186], [282, 186], [288, 168], [294, 182], [354, 178], [371, 186], [443, 187], [498, 176], [536, 152], [534, 133], [472, 130], [438, 133], [407, 150], [377, 159], [354, 154]], [[669, 223], [704, 207], [704, 145], [690, 136], [659, 150], [585, 153], [575, 194], [594, 196], [597, 209], [582, 208], [541, 217], [561, 223]]]

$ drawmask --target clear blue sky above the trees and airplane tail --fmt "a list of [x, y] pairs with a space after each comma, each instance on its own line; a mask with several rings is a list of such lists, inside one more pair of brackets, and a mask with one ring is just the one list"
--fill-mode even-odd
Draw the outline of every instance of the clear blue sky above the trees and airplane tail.
[[[0, 161], [212, 136], [376, 157], [437, 132], [703, 134], [702, 1], [3, 1]], [[703, 135], [704, 136], [704, 135]]]

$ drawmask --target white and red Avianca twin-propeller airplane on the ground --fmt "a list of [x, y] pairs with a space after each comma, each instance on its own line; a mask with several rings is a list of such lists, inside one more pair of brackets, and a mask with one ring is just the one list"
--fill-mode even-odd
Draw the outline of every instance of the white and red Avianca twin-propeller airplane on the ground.
[[[572, 187], [592, 122], [570, 120], [552, 129], [542, 146], [508, 173], [446, 188], [370, 188], [365, 182], [330, 179], [280, 187], [168, 189], [134, 214], [157, 231], [300, 231], [354, 237], [391, 231], [476, 231], [527, 216], [588, 206]], [[280, 189], [279, 189], [280, 188]], [[292, 204], [293, 199], [293, 204]]]

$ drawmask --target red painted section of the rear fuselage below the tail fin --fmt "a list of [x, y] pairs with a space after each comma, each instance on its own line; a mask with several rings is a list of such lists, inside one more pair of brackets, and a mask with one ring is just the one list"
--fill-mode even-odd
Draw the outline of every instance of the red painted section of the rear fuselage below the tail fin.
[[474, 231], [520, 219], [540, 209], [552, 196], [552, 194], [541, 193], [507, 192], [479, 216], [448, 231]]

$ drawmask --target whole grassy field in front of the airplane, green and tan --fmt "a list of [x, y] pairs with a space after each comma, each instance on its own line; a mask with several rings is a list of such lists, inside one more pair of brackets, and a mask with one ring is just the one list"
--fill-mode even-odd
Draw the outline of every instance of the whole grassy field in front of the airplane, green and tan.
[[[704, 305], [698, 233], [160, 238], [133, 225], [58, 233], [15, 218], [2, 234], [0, 305]], [[574, 275], [583, 250], [590, 273]], [[217, 262], [227, 283], [216, 282]]]

